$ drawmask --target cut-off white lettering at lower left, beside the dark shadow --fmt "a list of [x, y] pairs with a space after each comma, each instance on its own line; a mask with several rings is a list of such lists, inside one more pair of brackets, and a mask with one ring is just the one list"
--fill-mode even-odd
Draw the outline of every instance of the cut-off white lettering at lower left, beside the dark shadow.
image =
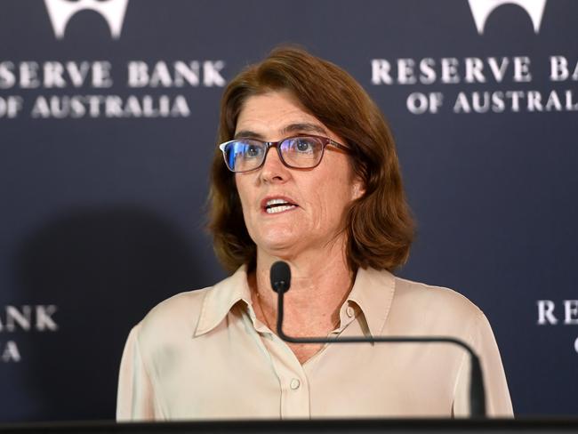
[[56, 332], [57, 307], [49, 305], [4, 306], [0, 309], [0, 363], [18, 363], [22, 356], [14, 339], [4, 341], [3, 334]]

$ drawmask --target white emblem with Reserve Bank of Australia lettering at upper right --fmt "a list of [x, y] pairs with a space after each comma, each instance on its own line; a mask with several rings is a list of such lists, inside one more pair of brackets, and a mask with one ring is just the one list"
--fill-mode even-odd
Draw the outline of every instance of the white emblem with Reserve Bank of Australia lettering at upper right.
[[[502, 4], [517, 4], [530, 16], [538, 34], [546, 0], [469, 0], [478, 33]], [[535, 69], [538, 69], [537, 73]], [[534, 76], [540, 85], [533, 85]], [[550, 85], [542, 84], [547, 77]], [[432, 88], [409, 92], [405, 106], [414, 115], [578, 111], [578, 56], [552, 53], [487, 57], [422, 57], [371, 60], [371, 84]], [[472, 89], [473, 88], [473, 89]], [[480, 88], [482, 90], [480, 90]]]

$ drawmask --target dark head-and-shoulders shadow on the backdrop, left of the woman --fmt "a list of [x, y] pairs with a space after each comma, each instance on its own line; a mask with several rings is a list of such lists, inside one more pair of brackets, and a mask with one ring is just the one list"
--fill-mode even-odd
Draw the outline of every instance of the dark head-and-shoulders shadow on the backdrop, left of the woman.
[[185, 234], [137, 206], [72, 210], [32, 234], [15, 256], [19, 298], [56, 305], [59, 328], [26, 336], [20, 384], [36, 402], [26, 419], [114, 418], [130, 328], [210, 279], [204, 262]]

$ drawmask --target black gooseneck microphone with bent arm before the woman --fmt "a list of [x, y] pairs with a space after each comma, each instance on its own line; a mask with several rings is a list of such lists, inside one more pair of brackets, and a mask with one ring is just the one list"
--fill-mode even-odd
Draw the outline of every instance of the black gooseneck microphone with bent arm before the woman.
[[471, 418], [485, 418], [486, 417], [486, 391], [484, 390], [484, 375], [482, 374], [482, 366], [479, 362], [478, 355], [472, 350], [470, 345], [460, 339], [450, 336], [373, 336], [373, 337], [302, 337], [297, 338], [288, 336], [283, 333], [283, 314], [284, 304], [283, 299], [285, 293], [291, 287], [291, 269], [284, 261], [275, 262], [270, 269], [269, 274], [271, 280], [271, 287], [277, 293], [277, 334], [285, 342], [291, 343], [360, 343], [360, 342], [392, 342], [392, 343], [408, 343], [408, 342], [436, 342], [436, 343], [452, 343], [462, 347], [463, 350], [470, 354], [471, 371], [470, 371], [470, 417]]

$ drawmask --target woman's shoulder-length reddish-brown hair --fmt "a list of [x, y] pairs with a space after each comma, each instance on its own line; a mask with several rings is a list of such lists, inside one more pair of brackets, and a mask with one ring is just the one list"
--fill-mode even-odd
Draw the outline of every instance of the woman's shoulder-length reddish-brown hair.
[[[235, 134], [247, 98], [289, 91], [303, 108], [339, 135], [352, 152], [354, 173], [365, 194], [347, 215], [349, 269], [393, 270], [405, 263], [413, 240], [413, 221], [405, 201], [393, 137], [380, 109], [355, 79], [333, 63], [294, 47], [279, 47], [245, 68], [221, 100], [218, 141]], [[256, 246], [245, 228], [234, 173], [215, 150], [209, 193], [209, 230], [217, 257], [229, 271], [254, 264]]]

